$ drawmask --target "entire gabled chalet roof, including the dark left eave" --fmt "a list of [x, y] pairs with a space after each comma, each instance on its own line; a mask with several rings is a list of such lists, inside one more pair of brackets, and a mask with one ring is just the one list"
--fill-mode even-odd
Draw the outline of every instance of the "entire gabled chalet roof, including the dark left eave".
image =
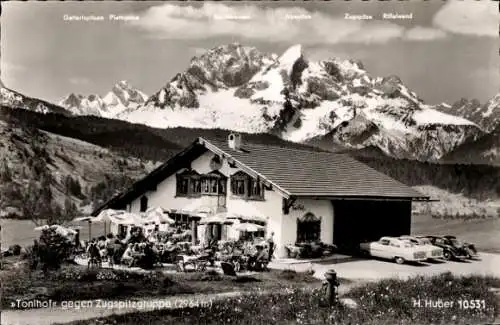
[[227, 141], [198, 138], [126, 192], [94, 210], [92, 215], [107, 208], [124, 208], [170, 175], [188, 168], [191, 161], [207, 150], [258, 177], [285, 198], [429, 199], [347, 154], [250, 143], [244, 143], [241, 150], [236, 151], [229, 148]]

